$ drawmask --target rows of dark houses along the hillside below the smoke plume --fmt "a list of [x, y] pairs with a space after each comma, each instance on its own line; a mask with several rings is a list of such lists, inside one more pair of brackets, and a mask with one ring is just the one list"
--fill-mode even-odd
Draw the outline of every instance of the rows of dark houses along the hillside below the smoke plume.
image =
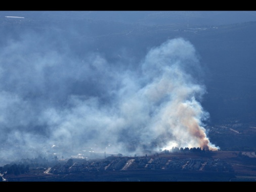
[[74, 159], [71, 166], [58, 164], [51, 168], [50, 173], [67, 174], [87, 171], [107, 170], [207, 170], [207, 171], [232, 171], [232, 166], [220, 159], [180, 159], [178, 157], [118, 157], [110, 156], [101, 160]]

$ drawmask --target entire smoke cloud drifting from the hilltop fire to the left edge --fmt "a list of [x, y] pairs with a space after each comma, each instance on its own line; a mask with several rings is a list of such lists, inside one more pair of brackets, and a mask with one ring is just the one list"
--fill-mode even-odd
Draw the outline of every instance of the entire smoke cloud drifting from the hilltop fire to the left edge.
[[21, 34], [1, 47], [2, 157], [35, 156], [54, 145], [71, 155], [87, 147], [127, 155], [218, 149], [205, 134], [205, 87], [195, 78], [201, 70], [189, 41], [167, 40], [136, 64], [140, 70], [120, 70], [100, 53], [78, 57], [55, 40]]

